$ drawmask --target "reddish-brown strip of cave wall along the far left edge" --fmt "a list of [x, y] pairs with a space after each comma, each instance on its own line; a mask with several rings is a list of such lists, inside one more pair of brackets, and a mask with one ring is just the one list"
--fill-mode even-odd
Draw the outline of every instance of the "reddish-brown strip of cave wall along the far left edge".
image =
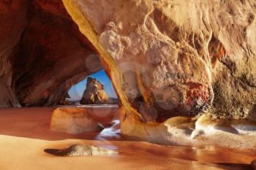
[[18, 107], [18, 99], [11, 88], [12, 55], [26, 27], [26, 0], [0, 1], [0, 107]]

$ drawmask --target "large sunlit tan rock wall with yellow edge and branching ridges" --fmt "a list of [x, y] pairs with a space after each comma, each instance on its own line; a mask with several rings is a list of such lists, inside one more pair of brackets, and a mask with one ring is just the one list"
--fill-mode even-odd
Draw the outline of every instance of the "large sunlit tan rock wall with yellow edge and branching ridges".
[[124, 134], [163, 142], [168, 119], [206, 112], [256, 120], [254, 1], [63, 1], [105, 62]]

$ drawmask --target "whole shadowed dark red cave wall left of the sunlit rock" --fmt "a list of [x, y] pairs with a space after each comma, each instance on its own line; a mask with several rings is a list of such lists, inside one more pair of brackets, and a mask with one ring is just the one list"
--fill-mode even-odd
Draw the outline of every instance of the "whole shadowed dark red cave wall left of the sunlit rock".
[[102, 69], [61, 1], [1, 1], [0, 107], [57, 104]]

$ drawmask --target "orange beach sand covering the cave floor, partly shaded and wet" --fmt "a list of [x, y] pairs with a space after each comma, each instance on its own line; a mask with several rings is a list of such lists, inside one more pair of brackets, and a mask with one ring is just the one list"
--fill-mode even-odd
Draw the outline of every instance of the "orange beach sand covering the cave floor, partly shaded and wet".
[[[255, 150], [214, 146], [164, 146], [134, 142], [119, 132], [65, 134], [49, 130], [54, 108], [0, 110], [0, 170], [80, 169], [252, 169]], [[117, 108], [86, 108], [99, 123], [115, 119]], [[93, 144], [119, 152], [115, 156], [62, 158], [48, 155], [47, 148]]]

